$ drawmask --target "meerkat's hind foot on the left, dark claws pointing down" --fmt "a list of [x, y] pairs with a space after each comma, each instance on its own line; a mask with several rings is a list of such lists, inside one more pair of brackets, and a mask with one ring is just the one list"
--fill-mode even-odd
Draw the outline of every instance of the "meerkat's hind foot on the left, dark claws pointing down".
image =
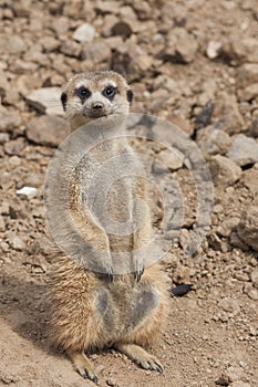
[[95, 373], [94, 365], [87, 358], [84, 353], [80, 352], [66, 352], [68, 356], [71, 358], [76, 372], [84, 378], [90, 379], [97, 384], [99, 378]]

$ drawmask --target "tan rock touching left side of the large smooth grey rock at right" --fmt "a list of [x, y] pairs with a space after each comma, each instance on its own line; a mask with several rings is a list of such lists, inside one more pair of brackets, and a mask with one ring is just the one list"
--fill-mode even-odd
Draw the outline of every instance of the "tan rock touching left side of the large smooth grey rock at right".
[[197, 132], [197, 144], [205, 157], [209, 155], [225, 155], [231, 144], [231, 138], [221, 129], [216, 129], [216, 125], [210, 125]]

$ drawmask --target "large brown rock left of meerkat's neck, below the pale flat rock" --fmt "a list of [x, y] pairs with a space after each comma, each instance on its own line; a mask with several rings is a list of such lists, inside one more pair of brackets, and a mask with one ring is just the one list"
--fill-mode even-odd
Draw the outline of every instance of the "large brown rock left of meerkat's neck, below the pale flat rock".
[[27, 125], [27, 137], [35, 143], [47, 146], [59, 146], [71, 133], [70, 124], [61, 117], [43, 115], [32, 118]]

